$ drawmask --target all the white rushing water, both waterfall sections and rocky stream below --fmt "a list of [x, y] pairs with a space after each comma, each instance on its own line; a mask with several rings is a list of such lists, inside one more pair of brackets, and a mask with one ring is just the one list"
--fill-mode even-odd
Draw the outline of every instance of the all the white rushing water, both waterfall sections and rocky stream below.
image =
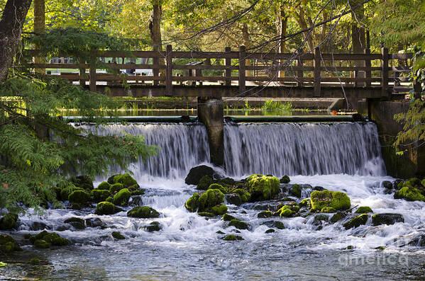
[[[219, 217], [200, 217], [184, 208], [195, 192], [184, 177], [209, 159], [202, 125], [88, 128], [99, 134], [143, 134], [147, 144], [161, 147], [159, 156], [131, 166], [146, 193], [125, 207], [148, 205], [160, 212], [160, 218], [129, 218], [126, 212], [98, 216], [94, 208], [50, 209], [44, 214], [29, 210], [20, 217], [18, 234], [48, 229], [73, 244], [53, 250], [23, 246], [23, 252], [2, 258], [9, 263], [0, 267], [4, 280], [419, 280], [424, 276], [424, 248], [412, 241], [425, 235], [425, 202], [394, 200], [382, 186], [394, 178], [386, 176], [373, 123], [225, 125], [226, 169], [220, 173], [233, 178], [287, 174], [290, 183], [343, 191], [351, 197], [352, 207], [402, 214], [404, 222], [372, 226], [369, 218], [366, 225], [346, 230], [342, 222], [318, 222], [314, 215], [258, 219], [258, 212], [274, 202], [228, 205], [229, 214], [251, 226], [239, 234]], [[97, 178], [95, 185], [101, 180]], [[308, 197], [309, 190], [304, 195]], [[69, 217], [99, 218], [104, 226], [65, 229]], [[154, 220], [162, 229], [145, 231]], [[265, 234], [270, 220], [280, 220], [285, 229]], [[111, 231], [120, 231], [126, 239], [112, 239]], [[216, 231], [245, 240], [223, 241], [223, 234]], [[20, 262], [35, 256], [45, 265]]]

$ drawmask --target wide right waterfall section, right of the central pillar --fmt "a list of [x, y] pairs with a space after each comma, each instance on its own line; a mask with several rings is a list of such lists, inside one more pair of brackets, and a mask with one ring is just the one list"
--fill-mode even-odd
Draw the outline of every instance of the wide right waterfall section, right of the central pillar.
[[226, 125], [224, 147], [231, 176], [386, 173], [372, 122]]

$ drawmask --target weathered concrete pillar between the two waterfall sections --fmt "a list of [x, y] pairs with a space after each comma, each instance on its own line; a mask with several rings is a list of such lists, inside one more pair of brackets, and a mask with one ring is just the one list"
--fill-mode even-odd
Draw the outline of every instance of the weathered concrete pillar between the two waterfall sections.
[[198, 117], [208, 133], [211, 163], [223, 166], [224, 163], [224, 122], [223, 100], [221, 98], [198, 97]]

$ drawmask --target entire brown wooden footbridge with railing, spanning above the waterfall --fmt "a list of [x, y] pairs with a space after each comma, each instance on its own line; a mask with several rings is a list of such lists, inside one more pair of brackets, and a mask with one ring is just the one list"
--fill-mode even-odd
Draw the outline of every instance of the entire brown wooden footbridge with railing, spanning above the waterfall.
[[[26, 50], [36, 56], [38, 51]], [[28, 64], [111, 96], [404, 98], [411, 53], [324, 54], [92, 50], [88, 62]], [[67, 72], [52, 73], [55, 69]], [[126, 71], [126, 73], [123, 73]]]

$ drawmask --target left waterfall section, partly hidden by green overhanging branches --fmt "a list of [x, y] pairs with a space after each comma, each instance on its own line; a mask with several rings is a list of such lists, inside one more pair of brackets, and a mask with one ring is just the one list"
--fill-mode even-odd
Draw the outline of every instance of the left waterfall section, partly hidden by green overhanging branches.
[[[145, 143], [160, 147], [159, 154], [148, 161], [140, 159], [130, 168], [136, 178], [153, 176], [184, 178], [190, 168], [209, 161], [209, 145], [203, 125], [180, 124], [113, 124], [100, 127], [87, 126], [95, 134], [143, 134]], [[121, 171], [113, 166], [112, 171]]]

